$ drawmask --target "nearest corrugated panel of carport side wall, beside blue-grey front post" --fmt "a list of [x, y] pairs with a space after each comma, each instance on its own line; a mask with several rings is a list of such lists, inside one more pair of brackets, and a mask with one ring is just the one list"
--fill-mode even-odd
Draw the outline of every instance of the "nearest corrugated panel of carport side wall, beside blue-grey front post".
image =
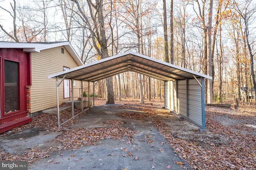
[[188, 119], [202, 127], [201, 86], [195, 79], [188, 80]]

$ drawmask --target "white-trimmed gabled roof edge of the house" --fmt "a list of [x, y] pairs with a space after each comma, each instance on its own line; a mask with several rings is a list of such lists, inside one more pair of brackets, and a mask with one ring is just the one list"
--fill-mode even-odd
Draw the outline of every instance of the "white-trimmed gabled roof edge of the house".
[[69, 42], [47, 42], [47, 43], [17, 43], [17, 42], [0, 42], [0, 48], [22, 48], [29, 53], [40, 53], [41, 50], [54, 47], [64, 46], [78, 65], [84, 65], [80, 57]]

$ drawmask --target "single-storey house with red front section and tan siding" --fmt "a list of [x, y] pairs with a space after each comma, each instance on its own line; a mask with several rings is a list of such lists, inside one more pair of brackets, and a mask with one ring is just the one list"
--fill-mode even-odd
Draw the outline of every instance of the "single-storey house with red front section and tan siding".
[[[56, 106], [56, 81], [48, 75], [83, 65], [69, 42], [0, 42], [0, 133], [32, 120], [28, 115]], [[74, 94], [79, 96], [79, 83]], [[70, 81], [59, 86], [70, 100]]]

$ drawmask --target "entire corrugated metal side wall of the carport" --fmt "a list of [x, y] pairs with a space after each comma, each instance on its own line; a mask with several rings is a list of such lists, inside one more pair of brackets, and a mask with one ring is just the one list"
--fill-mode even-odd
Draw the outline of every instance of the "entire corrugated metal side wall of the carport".
[[164, 85], [166, 107], [202, 127], [202, 88], [198, 82], [195, 79], [188, 79], [168, 81]]

